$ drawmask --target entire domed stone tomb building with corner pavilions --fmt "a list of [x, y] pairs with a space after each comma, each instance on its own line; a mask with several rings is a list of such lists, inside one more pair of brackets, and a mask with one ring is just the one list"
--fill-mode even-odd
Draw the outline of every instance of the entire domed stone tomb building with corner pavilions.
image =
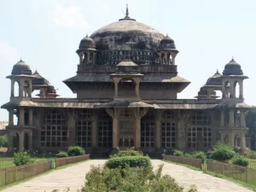
[[77, 98], [58, 97], [24, 61], [13, 67], [11, 95], [2, 106], [9, 112], [9, 153], [79, 145], [90, 154], [116, 147], [158, 154], [163, 148], [207, 150], [218, 141], [245, 149], [247, 76], [234, 59], [195, 99], [177, 99], [190, 82], [177, 74], [174, 40], [131, 19], [128, 9], [124, 19], [83, 38], [76, 52], [77, 74], [63, 82]]

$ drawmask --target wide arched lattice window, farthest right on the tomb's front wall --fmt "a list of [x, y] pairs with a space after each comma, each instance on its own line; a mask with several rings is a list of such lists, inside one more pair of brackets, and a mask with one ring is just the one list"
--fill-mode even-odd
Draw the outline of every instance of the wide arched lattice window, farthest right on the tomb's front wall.
[[189, 117], [188, 147], [196, 150], [208, 148], [212, 144], [211, 118], [202, 112]]

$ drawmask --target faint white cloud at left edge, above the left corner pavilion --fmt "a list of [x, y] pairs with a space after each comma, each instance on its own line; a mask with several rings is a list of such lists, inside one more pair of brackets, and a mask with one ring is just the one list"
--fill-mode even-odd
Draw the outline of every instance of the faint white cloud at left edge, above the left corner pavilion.
[[0, 42], [0, 66], [14, 65], [20, 59], [20, 52], [13, 46]]

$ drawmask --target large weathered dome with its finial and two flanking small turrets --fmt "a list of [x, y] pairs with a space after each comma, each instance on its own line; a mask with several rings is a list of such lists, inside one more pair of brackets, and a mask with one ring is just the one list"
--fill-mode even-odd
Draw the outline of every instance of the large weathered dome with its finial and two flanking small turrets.
[[[120, 61], [131, 60], [137, 65], [170, 64], [171, 56], [177, 55], [172, 38], [165, 37], [151, 26], [137, 22], [129, 16], [80, 41], [77, 53], [80, 62], [96, 65], [117, 65]], [[173, 62], [174, 63], [174, 62]]]

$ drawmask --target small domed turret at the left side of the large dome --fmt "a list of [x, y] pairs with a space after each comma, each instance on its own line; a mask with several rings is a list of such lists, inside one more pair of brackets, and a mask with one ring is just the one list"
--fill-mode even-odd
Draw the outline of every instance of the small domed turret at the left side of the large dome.
[[77, 54], [79, 55], [79, 64], [95, 64], [96, 44], [92, 38], [88, 37], [88, 34], [80, 41]]

